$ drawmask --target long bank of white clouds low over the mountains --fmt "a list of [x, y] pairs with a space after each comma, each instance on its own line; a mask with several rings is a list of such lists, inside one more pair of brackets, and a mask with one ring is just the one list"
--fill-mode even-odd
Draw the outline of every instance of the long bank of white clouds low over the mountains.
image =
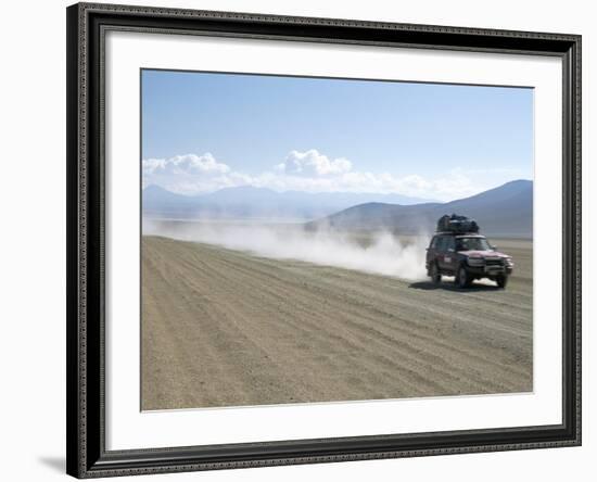
[[223, 188], [254, 186], [276, 191], [399, 193], [409, 196], [450, 201], [466, 198], [496, 183], [473, 182], [478, 175], [462, 169], [435, 179], [420, 175], [396, 177], [390, 173], [353, 169], [346, 158], [330, 160], [312, 149], [292, 151], [284, 162], [259, 175], [231, 169], [211, 153], [186, 154], [142, 162], [143, 187], [157, 185], [183, 194], [212, 192]]

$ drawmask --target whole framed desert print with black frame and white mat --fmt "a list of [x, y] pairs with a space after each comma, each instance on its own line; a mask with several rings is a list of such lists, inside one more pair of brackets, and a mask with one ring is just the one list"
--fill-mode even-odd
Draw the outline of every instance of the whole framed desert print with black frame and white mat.
[[67, 472], [581, 443], [581, 38], [67, 9]]

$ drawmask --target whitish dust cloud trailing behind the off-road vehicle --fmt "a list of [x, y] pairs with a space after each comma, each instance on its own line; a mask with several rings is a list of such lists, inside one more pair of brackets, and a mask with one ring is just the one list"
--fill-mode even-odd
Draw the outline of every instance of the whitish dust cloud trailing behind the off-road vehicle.
[[397, 237], [388, 231], [357, 232], [302, 225], [143, 219], [143, 236], [215, 244], [277, 259], [296, 259], [323, 266], [392, 276], [425, 278], [429, 237]]

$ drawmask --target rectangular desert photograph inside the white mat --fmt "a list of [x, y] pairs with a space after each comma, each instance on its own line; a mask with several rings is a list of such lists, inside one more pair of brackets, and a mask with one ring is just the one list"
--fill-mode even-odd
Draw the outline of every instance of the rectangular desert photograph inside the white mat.
[[533, 392], [532, 87], [139, 81], [141, 410]]

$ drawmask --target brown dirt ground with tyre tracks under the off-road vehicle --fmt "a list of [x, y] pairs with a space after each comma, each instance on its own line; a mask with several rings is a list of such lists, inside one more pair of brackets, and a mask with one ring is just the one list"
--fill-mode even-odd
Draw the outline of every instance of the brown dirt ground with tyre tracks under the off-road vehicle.
[[[532, 256], [506, 290], [142, 240], [142, 408], [532, 390]], [[507, 249], [507, 250], [506, 250]]]

